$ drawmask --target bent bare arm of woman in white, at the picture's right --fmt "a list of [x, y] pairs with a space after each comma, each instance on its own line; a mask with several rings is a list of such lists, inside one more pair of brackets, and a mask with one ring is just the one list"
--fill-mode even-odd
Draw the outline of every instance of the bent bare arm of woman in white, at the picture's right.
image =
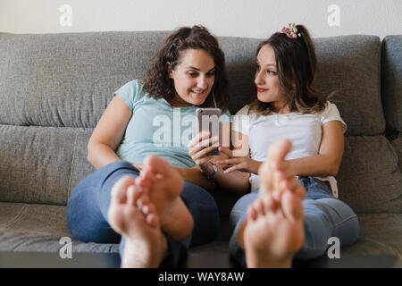
[[336, 176], [342, 162], [345, 141], [339, 121], [322, 125], [319, 154], [289, 160], [290, 169], [298, 176]]

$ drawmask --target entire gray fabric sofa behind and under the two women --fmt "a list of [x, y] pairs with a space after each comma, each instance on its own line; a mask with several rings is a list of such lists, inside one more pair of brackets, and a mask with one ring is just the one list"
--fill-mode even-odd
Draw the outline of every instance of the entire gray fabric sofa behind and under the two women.
[[[58, 252], [70, 237], [65, 205], [95, 169], [87, 143], [113, 91], [143, 77], [168, 31], [15, 35], [0, 33], [0, 251]], [[219, 38], [226, 55], [230, 112], [255, 94], [261, 39]], [[337, 90], [348, 123], [339, 198], [360, 222], [342, 254], [402, 257], [402, 36], [314, 38], [316, 84]], [[230, 266], [230, 208], [214, 192], [221, 231], [191, 248], [189, 266]], [[73, 240], [73, 253], [117, 253], [118, 245]]]

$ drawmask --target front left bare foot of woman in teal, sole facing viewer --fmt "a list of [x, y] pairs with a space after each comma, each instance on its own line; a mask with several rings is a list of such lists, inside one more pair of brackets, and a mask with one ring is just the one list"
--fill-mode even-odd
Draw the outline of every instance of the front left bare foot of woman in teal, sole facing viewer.
[[138, 189], [126, 176], [114, 184], [111, 196], [109, 223], [126, 239], [121, 265], [158, 267], [167, 255], [167, 241], [147, 189]]

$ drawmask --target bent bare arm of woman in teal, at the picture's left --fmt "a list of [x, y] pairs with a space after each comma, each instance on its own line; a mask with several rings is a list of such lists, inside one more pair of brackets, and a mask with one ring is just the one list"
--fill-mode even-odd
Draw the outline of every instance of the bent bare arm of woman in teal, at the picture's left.
[[120, 160], [114, 150], [121, 143], [131, 115], [130, 107], [121, 97], [113, 97], [107, 105], [88, 141], [88, 161], [96, 169]]

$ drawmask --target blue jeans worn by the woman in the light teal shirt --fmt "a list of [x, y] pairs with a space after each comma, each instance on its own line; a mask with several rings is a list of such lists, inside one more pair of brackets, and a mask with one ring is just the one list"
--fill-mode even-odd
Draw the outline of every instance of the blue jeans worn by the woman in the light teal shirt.
[[[113, 231], [107, 213], [113, 185], [125, 175], [136, 178], [139, 171], [128, 162], [116, 161], [91, 173], [72, 190], [67, 203], [66, 220], [74, 240], [120, 243], [122, 257], [125, 238]], [[182, 241], [172, 240], [165, 234], [169, 254], [163, 259], [161, 267], [185, 265], [190, 246], [210, 242], [218, 233], [218, 207], [205, 189], [185, 181], [180, 198], [193, 216], [194, 230], [188, 239]]]

